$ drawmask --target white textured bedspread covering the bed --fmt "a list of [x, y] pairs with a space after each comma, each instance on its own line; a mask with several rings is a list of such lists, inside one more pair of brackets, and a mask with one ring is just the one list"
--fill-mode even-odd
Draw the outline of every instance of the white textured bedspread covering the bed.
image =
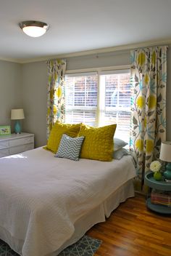
[[23, 256], [50, 255], [70, 239], [76, 220], [132, 177], [130, 156], [72, 161], [43, 148], [7, 156], [0, 159], [0, 228], [22, 242]]

